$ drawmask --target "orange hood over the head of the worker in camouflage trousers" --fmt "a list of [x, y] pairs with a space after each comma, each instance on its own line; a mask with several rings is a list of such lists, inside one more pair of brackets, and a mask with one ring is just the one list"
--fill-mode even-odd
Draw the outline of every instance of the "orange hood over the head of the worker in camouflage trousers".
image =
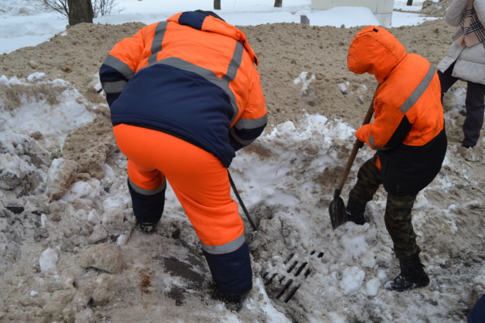
[[347, 66], [353, 73], [369, 73], [382, 84], [406, 56], [406, 49], [389, 31], [367, 26], [353, 37]]

